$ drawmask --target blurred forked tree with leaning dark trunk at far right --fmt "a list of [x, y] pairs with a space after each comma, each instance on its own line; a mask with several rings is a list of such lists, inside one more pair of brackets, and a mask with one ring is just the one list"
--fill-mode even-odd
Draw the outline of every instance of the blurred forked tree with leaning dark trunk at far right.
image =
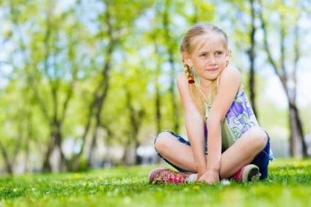
[[[267, 52], [267, 59], [272, 65], [272, 68], [279, 77], [285, 95], [288, 99], [289, 106], [289, 123], [290, 123], [290, 155], [294, 157], [308, 156], [307, 144], [305, 143], [303, 136], [303, 126], [299, 115], [299, 109], [296, 105], [296, 72], [298, 70], [297, 63], [301, 58], [300, 43], [299, 43], [299, 17], [300, 9], [297, 1], [291, 3], [283, 3], [283, 1], [274, 1], [273, 3], [261, 4], [259, 17], [261, 19], [261, 28], [263, 30], [263, 41], [265, 51]], [[265, 14], [263, 12], [265, 11]], [[269, 12], [268, 12], [269, 11]], [[272, 18], [274, 17], [274, 18]], [[267, 19], [270, 19], [269, 25], [267, 25]], [[271, 19], [276, 19], [276, 22], [272, 22]], [[278, 28], [280, 42], [279, 42], [279, 63], [275, 60], [277, 57], [273, 57], [272, 48], [269, 44], [268, 32], [272, 30], [272, 26]], [[292, 39], [292, 48], [294, 48], [293, 56], [286, 55], [285, 49], [289, 47], [285, 44], [290, 43], [288, 39]], [[292, 61], [292, 68], [289, 68], [290, 61]]]

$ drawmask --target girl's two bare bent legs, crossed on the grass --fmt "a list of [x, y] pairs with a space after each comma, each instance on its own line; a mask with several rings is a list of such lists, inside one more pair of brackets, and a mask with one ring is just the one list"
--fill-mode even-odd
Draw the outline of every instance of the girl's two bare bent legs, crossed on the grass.
[[[267, 135], [259, 127], [247, 130], [221, 157], [220, 177], [229, 178], [240, 168], [249, 164], [267, 144]], [[160, 154], [171, 164], [197, 172], [194, 155], [190, 146], [182, 144], [170, 132], [162, 132], [155, 144]]]

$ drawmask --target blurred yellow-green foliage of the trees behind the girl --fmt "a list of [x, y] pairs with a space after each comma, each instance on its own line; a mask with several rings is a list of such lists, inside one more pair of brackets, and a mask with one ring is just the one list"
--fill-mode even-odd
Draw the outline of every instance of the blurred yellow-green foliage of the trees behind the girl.
[[[247, 1], [81, 0], [62, 3], [15, 0], [0, 1], [0, 5], [0, 141], [11, 160], [20, 138], [22, 143], [17, 154], [23, 155], [28, 150], [32, 157], [32, 152], [34, 155], [46, 152], [55, 127], [51, 123], [53, 119], [61, 122], [62, 115], [62, 141], [79, 143], [94, 108], [91, 103], [95, 91], [98, 88], [103, 90], [107, 82], [109, 90], [100, 113], [104, 131], [100, 140], [124, 146], [133, 138], [129, 137], [133, 124], [126, 103], [126, 90], [132, 97], [135, 111], [144, 111], [138, 133], [140, 141], [156, 133], [156, 88], [161, 102], [161, 129], [172, 129], [176, 120], [169, 84], [173, 76], [183, 70], [179, 45], [182, 35], [194, 22], [210, 21], [223, 28], [229, 34], [234, 65], [238, 65], [241, 72], [248, 67], [245, 55], [249, 49]], [[274, 17], [274, 11], [279, 16], [288, 14], [284, 22], [291, 31], [291, 23], [298, 14], [294, 4], [264, 1], [263, 5], [265, 17]], [[305, 6], [304, 10], [307, 8]], [[278, 18], [269, 21], [272, 34], [279, 30], [279, 26], [275, 27], [278, 23]], [[303, 34], [301, 38], [308, 38], [308, 28]], [[109, 46], [113, 49], [109, 50]], [[264, 72], [267, 70], [263, 67], [265, 56], [260, 53], [262, 48], [259, 46], [260, 43], [256, 48], [256, 61], [260, 62], [256, 70]], [[293, 58], [293, 48], [286, 48], [288, 60]], [[106, 63], [110, 67], [109, 78], [103, 75]], [[9, 71], [3, 72], [6, 68]], [[256, 79], [256, 101], [263, 106], [263, 110], [259, 108], [261, 124], [268, 131], [274, 126], [287, 130], [287, 115], [271, 106], [272, 103], [261, 102], [260, 93], [265, 83], [259, 73]], [[180, 111], [180, 120], [177, 121], [182, 126], [176, 88], [174, 92], [176, 107]], [[64, 102], [69, 95], [64, 111]], [[307, 123], [305, 132], [309, 132], [308, 106], [301, 114], [303, 125]], [[93, 134], [94, 122], [93, 117], [88, 136]], [[41, 160], [36, 164], [41, 166]]]

